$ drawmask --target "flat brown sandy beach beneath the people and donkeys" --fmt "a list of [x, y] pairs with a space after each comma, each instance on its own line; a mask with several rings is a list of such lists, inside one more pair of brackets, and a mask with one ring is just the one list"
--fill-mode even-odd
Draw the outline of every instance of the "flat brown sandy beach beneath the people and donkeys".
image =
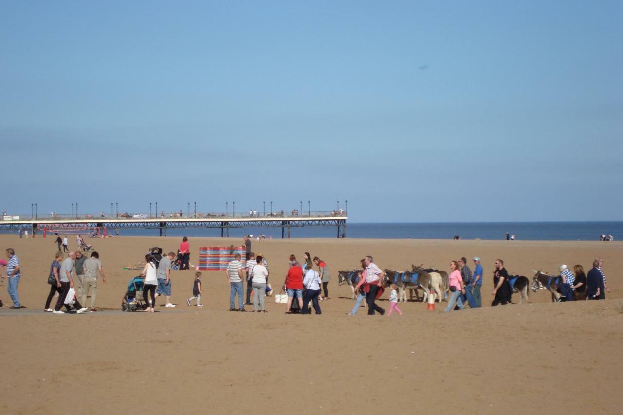
[[[205, 308], [186, 305], [194, 272], [174, 271], [178, 307], [156, 307], [155, 314], [118, 311], [128, 280], [138, 274], [123, 265], [140, 261], [151, 246], [175, 250], [180, 241], [171, 237], [89, 240], [108, 278], [99, 283], [97, 305], [110, 311], [52, 315], [42, 309], [54, 239], [0, 241], [22, 262], [19, 293], [28, 307], [8, 310], [2, 287], [2, 414], [70, 408], [83, 414], [623, 411], [621, 242], [254, 242], [254, 251], [269, 260], [273, 287], [282, 282], [291, 253], [300, 259], [308, 250], [330, 267], [331, 299], [321, 302], [323, 314], [302, 316], [285, 315], [285, 305], [272, 298], [267, 314], [228, 312], [222, 271], [203, 272]], [[241, 241], [190, 242], [196, 264], [197, 247]], [[368, 317], [364, 309], [345, 315], [353, 301], [348, 287], [338, 287], [337, 271], [356, 267], [364, 255], [391, 269], [447, 269], [452, 259], [478, 255], [485, 267], [485, 307], [442, 313], [442, 303], [433, 313], [410, 302], [400, 305], [402, 316]], [[531, 279], [533, 269], [554, 272], [562, 263], [588, 270], [596, 256], [604, 259], [611, 287], [606, 301], [553, 304], [540, 291], [530, 293], [531, 304], [487, 307], [497, 258], [509, 272]]]

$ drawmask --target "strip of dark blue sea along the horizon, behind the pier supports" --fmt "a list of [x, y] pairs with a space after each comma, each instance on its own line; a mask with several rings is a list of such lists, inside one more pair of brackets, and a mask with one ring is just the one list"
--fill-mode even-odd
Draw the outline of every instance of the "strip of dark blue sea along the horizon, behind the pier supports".
[[[341, 229], [341, 228], [340, 228]], [[158, 236], [158, 229], [119, 229], [120, 236]], [[336, 227], [305, 226], [290, 228], [293, 238], [336, 238]], [[341, 231], [340, 231], [341, 232]], [[440, 223], [346, 223], [347, 238], [366, 239], [461, 239], [502, 240], [506, 232], [518, 241], [599, 241], [611, 234], [623, 237], [623, 222], [440, 222]], [[7, 233], [2, 232], [2, 233]], [[12, 231], [11, 233], [16, 233]], [[73, 233], [73, 232], [72, 232]], [[167, 229], [168, 237], [220, 237], [221, 229]], [[251, 234], [281, 238], [281, 227], [230, 228], [230, 237]], [[287, 229], [285, 231], [287, 237]]]

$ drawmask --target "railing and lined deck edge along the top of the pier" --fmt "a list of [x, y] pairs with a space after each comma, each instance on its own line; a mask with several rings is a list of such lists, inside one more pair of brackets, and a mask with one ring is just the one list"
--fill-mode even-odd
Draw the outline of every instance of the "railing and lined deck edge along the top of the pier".
[[298, 212], [293, 211], [273, 211], [273, 212], [160, 212], [155, 214], [152, 212], [123, 212], [117, 214], [99, 212], [99, 213], [56, 213], [50, 212], [49, 214], [37, 214], [36, 216], [31, 214], [4, 214], [0, 215], [0, 222], [12, 222], [12, 221], [93, 221], [97, 222], [107, 220], [127, 220], [137, 221], [146, 219], [305, 219], [308, 217], [345, 217], [346, 211], [343, 209], [336, 211], [305, 211]]

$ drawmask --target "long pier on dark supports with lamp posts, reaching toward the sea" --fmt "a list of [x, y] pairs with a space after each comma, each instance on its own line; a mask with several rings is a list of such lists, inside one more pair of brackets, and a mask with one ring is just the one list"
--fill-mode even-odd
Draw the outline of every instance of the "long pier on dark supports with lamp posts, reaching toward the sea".
[[[290, 238], [290, 229], [303, 226], [333, 226], [337, 237], [346, 237], [346, 211], [312, 211], [307, 214], [299, 212], [272, 212], [267, 214], [247, 213], [193, 213], [183, 216], [182, 212], [154, 216], [143, 213], [123, 213], [115, 217], [100, 214], [85, 214], [81, 217], [69, 217], [67, 214], [50, 214], [41, 216], [3, 215], [0, 218], [0, 230], [29, 231], [32, 234], [43, 232], [62, 232], [106, 229], [112, 233], [116, 228], [159, 229], [160, 236], [166, 236], [167, 229], [174, 228], [221, 228], [221, 237], [229, 237], [232, 228], [272, 227], [281, 228], [282, 239]], [[87, 232], [85, 232], [87, 233]]]

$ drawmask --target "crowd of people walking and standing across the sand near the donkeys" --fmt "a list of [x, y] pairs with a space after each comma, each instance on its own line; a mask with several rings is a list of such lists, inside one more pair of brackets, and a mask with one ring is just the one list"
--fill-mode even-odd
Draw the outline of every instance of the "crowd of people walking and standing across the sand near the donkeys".
[[[84, 242], [78, 237], [78, 247], [83, 248]], [[81, 243], [82, 242], [82, 243]], [[107, 280], [103, 271], [99, 253], [93, 251], [90, 257], [83, 253], [82, 249], [69, 250], [69, 241], [65, 236], [60, 236], [54, 241], [58, 246], [52, 263], [47, 283], [50, 285], [47, 299], [45, 300], [45, 312], [55, 314], [64, 313], [74, 308], [77, 313], [85, 311], [95, 312], [98, 277], [104, 284]], [[235, 255], [226, 269], [227, 280], [230, 284], [229, 311], [247, 312], [245, 305], [252, 305], [254, 312], [266, 313], [265, 297], [270, 295], [272, 287], [269, 284], [270, 270], [267, 259], [261, 253], [257, 255], [251, 250], [250, 236], [244, 237], [245, 264], [240, 254]], [[160, 250], [161, 252], [161, 250]], [[146, 312], [155, 312], [156, 298], [166, 297], [164, 307], [176, 307], [171, 302], [171, 270], [174, 261], [179, 264], [179, 269], [189, 269], [190, 244], [184, 237], [179, 245], [178, 253], [171, 251], [168, 254], [156, 257], [153, 252], [145, 255], [145, 266], [141, 271], [144, 277], [143, 300]], [[67, 255], [65, 257], [65, 254]], [[8, 292], [11, 297], [11, 309], [26, 308], [19, 301], [18, 285], [21, 277], [21, 265], [14, 249], [6, 250], [8, 260], [0, 260], [0, 269], [6, 267], [8, 279]], [[473, 270], [468, 266], [467, 259], [449, 262], [449, 295], [445, 312], [462, 310], [466, 305], [470, 308], [482, 307], [482, 282], [484, 279], [483, 266], [480, 257], [473, 257]], [[559, 297], [557, 301], [574, 300], [597, 300], [606, 298], [607, 287], [606, 275], [602, 270], [603, 260], [597, 258], [587, 274], [580, 264], [573, 267], [573, 272], [566, 265], [560, 265], [559, 274], [553, 275], [553, 283], [558, 282]], [[511, 302], [513, 287], [511, 276], [505, 268], [502, 259], [495, 260], [493, 270], [493, 289], [491, 295], [492, 306], [505, 305]], [[4, 279], [4, 275], [0, 276]], [[388, 315], [395, 310], [399, 315], [397, 286], [395, 284], [383, 285], [384, 272], [373, 261], [373, 257], [366, 256], [361, 260], [361, 272], [358, 273], [355, 292], [358, 293], [353, 309], [348, 312], [355, 315], [362, 303], [368, 308], [368, 315], [379, 313], [384, 315], [385, 310], [376, 303], [376, 300], [389, 289], [390, 309]], [[328, 265], [319, 257], [313, 257], [309, 252], [303, 252], [302, 261], [299, 262], [294, 254], [288, 258], [288, 272], [282, 284], [282, 290], [287, 295], [285, 306], [286, 313], [310, 313], [310, 304], [316, 314], [322, 313], [320, 303], [329, 300], [329, 282], [331, 273]], [[246, 292], [244, 282], [247, 283]], [[549, 283], [548, 283], [549, 288]], [[68, 294], [74, 289], [75, 298], [68, 302]], [[201, 272], [196, 272], [193, 280], [193, 295], [186, 302], [191, 305], [196, 300], [198, 307], [203, 307], [201, 301]], [[51, 308], [54, 295], [58, 296], [54, 308]], [[238, 297], [237, 308], [235, 297]], [[87, 300], [90, 298], [88, 307]], [[2, 302], [0, 301], [0, 307]]]

